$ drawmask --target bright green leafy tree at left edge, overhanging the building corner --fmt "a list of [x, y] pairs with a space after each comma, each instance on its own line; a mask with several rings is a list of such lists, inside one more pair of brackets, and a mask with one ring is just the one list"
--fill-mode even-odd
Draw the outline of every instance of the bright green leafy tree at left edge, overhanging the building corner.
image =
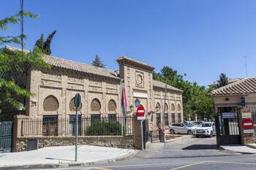
[[[10, 24], [19, 23], [20, 15], [21, 12], [0, 20], [0, 31], [7, 31]], [[37, 18], [37, 15], [31, 12], [23, 12], [23, 16]], [[26, 39], [25, 35], [0, 36], [0, 109], [3, 105], [19, 109], [20, 98], [33, 95], [26, 89], [26, 85], [18, 81], [18, 77], [23, 77], [29, 66], [49, 67], [37, 47], [34, 47], [30, 52], [26, 51], [26, 53], [5, 47], [6, 45], [21, 45], [21, 37]]]

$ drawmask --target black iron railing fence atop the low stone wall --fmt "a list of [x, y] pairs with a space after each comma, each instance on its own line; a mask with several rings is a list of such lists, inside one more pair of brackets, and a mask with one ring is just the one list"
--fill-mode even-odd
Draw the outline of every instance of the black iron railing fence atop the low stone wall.
[[[21, 120], [20, 126], [20, 136], [75, 136], [76, 116], [45, 115]], [[133, 117], [79, 115], [78, 136], [133, 136]]]

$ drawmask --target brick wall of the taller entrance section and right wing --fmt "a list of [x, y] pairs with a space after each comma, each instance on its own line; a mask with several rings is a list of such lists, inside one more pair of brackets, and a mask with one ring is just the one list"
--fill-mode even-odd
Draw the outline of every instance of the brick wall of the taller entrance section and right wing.
[[[120, 65], [119, 71], [121, 79], [124, 80], [127, 92], [127, 110], [129, 110], [130, 105], [135, 105], [134, 101], [138, 98], [140, 100], [140, 104], [145, 107], [146, 114], [151, 111], [153, 112], [151, 115], [148, 115], [148, 127], [151, 130], [157, 130], [157, 113], [161, 114], [161, 123], [163, 122], [162, 120], [164, 117], [165, 88], [154, 87], [152, 72], [145, 69], [130, 65]], [[142, 82], [138, 79], [139, 76], [142, 77]], [[157, 103], [160, 104], [158, 112], [156, 110]], [[167, 90], [166, 104], [167, 110], [165, 113], [168, 114], [169, 125], [172, 123], [171, 113], [175, 113], [176, 120], [174, 120], [174, 122], [178, 122], [179, 114], [181, 115], [180, 121], [184, 121], [181, 92]], [[171, 111], [171, 104], [174, 104], [175, 106], [174, 111]], [[181, 108], [180, 110], [178, 110], [178, 105]]]

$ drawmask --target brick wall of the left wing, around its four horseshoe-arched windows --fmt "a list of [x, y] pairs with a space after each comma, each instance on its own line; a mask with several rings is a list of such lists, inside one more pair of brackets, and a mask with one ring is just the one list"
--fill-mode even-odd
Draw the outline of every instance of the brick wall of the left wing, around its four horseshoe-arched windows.
[[[29, 98], [29, 102], [27, 102], [28, 112], [26, 114], [30, 117], [74, 115], [75, 111], [69, 109], [69, 102], [75, 97], [76, 93], [80, 93], [82, 96], [80, 111], [82, 115], [105, 115], [109, 113], [108, 102], [111, 99], [116, 102], [116, 113], [121, 113], [119, 80], [79, 74], [78, 72], [55, 67], [50, 70], [32, 68], [30, 75], [30, 91], [34, 93], [34, 96]], [[43, 109], [45, 98], [51, 95], [59, 101], [59, 109], [53, 112]], [[91, 101], [94, 98], [97, 98], [101, 104], [99, 112], [91, 111]]]

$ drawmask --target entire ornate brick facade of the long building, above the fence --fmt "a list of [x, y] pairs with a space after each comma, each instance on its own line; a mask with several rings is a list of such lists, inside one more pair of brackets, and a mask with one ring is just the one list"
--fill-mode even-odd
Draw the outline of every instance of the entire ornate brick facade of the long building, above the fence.
[[[49, 58], [46, 61], [49, 61]], [[134, 113], [133, 109], [130, 110], [130, 106], [134, 105], [135, 98], [139, 98], [140, 104], [148, 112], [148, 119], [151, 119], [152, 130], [157, 129], [157, 123], [163, 122], [164, 106], [167, 124], [183, 121], [182, 90], [168, 86], [164, 104], [165, 84], [153, 80], [154, 67], [152, 66], [121, 57], [117, 60], [119, 63], [117, 72], [102, 68], [97, 70], [97, 67], [82, 64], [83, 69], [89, 68], [85, 73], [78, 72], [74, 68], [67, 69], [69, 65], [78, 64], [74, 61], [53, 57], [50, 61], [53, 64], [50, 69], [39, 69], [33, 66], [29, 69], [26, 77], [27, 88], [34, 93], [34, 96], [26, 100], [28, 117], [42, 119], [44, 115], [58, 115], [59, 119], [69, 119], [69, 115], [75, 115], [72, 101], [76, 93], [82, 96], [80, 107], [82, 117], [121, 115], [122, 83], [127, 94], [125, 114]], [[59, 66], [56, 63], [64, 63], [67, 66]], [[104, 74], [97, 74], [97, 71]], [[156, 109], [157, 104], [159, 109]], [[159, 114], [158, 120], [157, 114]]]

